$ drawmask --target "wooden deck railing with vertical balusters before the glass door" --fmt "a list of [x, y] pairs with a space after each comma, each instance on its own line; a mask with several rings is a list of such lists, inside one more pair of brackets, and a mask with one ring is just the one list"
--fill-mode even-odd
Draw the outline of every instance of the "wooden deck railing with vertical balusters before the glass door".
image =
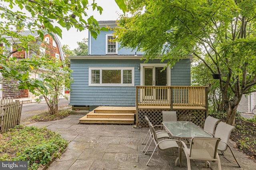
[[136, 106], [207, 107], [207, 86], [136, 86]]

